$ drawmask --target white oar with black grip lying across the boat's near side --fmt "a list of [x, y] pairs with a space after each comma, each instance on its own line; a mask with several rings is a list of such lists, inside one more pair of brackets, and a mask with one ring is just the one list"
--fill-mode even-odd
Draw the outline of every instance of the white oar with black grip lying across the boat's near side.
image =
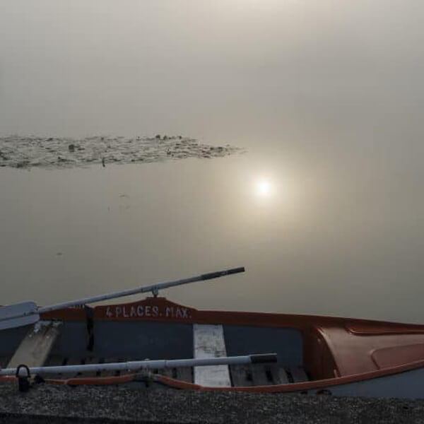
[[[136, 371], [156, 368], [177, 368], [177, 367], [205, 367], [208, 365], [239, 365], [252, 363], [276, 362], [276, 353], [261, 353], [257, 355], [223, 356], [221, 358], [201, 358], [201, 359], [171, 359], [171, 360], [134, 360], [123, 363], [87, 364], [87, 365], [58, 365], [54, 367], [30, 367], [32, 375], [47, 374], [69, 374], [75, 372], [102, 372], [102, 371]], [[16, 368], [4, 368], [0, 370], [0, 375], [16, 375]], [[20, 367], [17, 377], [27, 377], [26, 367]]]

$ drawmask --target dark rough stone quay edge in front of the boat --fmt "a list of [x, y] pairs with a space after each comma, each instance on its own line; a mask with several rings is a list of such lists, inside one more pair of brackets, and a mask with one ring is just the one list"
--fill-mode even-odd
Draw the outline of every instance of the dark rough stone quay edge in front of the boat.
[[0, 385], [0, 423], [424, 423], [424, 401]]

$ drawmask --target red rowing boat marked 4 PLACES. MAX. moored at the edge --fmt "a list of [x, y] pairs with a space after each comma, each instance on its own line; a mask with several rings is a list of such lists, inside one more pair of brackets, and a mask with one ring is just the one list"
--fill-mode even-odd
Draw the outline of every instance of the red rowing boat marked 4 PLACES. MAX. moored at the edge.
[[55, 384], [423, 398], [424, 325], [197, 310], [156, 293], [0, 331], [0, 381], [19, 365]]

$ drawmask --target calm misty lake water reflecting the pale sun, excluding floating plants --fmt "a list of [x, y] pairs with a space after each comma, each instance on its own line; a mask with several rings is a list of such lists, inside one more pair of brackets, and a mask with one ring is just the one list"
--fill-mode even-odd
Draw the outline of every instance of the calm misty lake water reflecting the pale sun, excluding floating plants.
[[0, 167], [0, 303], [245, 266], [163, 295], [424, 322], [423, 21], [418, 0], [0, 0], [0, 137], [245, 151]]

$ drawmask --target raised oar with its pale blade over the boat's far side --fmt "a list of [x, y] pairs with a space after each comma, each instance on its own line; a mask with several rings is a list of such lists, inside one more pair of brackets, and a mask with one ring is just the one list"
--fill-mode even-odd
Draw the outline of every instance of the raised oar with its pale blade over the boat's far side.
[[123, 290], [114, 293], [108, 293], [105, 295], [97, 295], [91, 298], [83, 298], [79, 300], [71, 300], [70, 302], [57, 303], [56, 305], [37, 307], [35, 302], [23, 302], [16, 305], [8, 305], [0, 307], [0, 330], [13, 329], [18, 326], [24, 326], [28, 324], [34, 324], [40, 320], [40, 314], [44, 312], [52, 312], [61, 310], [66, 307], [86, 305], [87, 303], [100, 302], [100, 300], [109, 300], [116, 298], [123, 298], [124, 296], [135, 295], [136, 293], [147, 293], [152, 292], [153, 295], [157, 296], [159, 290], [163, 290], [168, 287], [175, 287], [175, 285], [182, 285], [188, 283], [194, 283], [195, 281], [211, 280], [212, 278], [219, 278], [228, 276], [233, 273], [244, 272], [245, 267], [226, 269], [224, 271], [216, 271], [200, 276], [183, 278], [182, 280], [167, 281], [165, 283], [158, 283], [153, 285], [146, 285], [144, 287], [130, 288], [129, 290]]

